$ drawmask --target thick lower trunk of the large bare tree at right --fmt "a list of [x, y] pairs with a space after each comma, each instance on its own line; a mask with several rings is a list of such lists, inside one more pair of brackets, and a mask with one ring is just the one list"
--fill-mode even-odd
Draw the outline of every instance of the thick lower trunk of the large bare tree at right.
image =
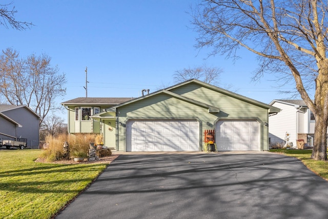
[[[326, 109], [325, 109], [326, 110]], [[316, 115], [316, 125], [314, 132], [314, 147], [311, 158], [314, 160], [326, 161], [327, 160], [327, 121], [320, 116]]]

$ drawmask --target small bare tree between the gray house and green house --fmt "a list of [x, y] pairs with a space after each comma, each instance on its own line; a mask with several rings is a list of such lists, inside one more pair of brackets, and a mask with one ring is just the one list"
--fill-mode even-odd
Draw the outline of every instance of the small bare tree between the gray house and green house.
[[40, 140], [44, 141], [47, 135], [57, 136], [63, 133], [67, 133], [67, 124], [63, 118], [52, 114], [47, 116], [40, 127]]

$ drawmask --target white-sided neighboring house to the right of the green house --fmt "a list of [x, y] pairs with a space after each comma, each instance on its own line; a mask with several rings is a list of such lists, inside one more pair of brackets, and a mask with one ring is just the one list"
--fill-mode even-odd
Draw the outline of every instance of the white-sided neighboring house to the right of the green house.
[[274, 99], [269, 105], [280, 108], [281, 112], [269, 116], [269, 138], [271, 146], [289, 141], [296, 146], [296, 140], [304, 140], [313, 146], [315, 119], [311, 110], [301, 99]]

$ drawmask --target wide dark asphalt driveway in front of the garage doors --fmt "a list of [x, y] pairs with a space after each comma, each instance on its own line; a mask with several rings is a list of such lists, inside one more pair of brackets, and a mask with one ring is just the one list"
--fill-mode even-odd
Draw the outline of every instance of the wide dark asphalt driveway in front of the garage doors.
[[274, 153], [126, 154], [56, 218], [328, 218], [328, 182]]

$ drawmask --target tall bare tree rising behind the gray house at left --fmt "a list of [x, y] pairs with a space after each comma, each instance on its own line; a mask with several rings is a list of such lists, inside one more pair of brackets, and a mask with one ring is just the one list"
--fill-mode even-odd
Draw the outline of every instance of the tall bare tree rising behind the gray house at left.
[[[0, 56], [0, 94], [10, 104], [25, 104], [40, 115], [42, 121], [50, 110], [58, 110], [57, 96], [66, 93], [65, 74], [51, 66], [51, 58], [42, 54], [20, 58], [16, 50], [7, 48]], [[41, 123], [42, 123], [41, 121]]]

